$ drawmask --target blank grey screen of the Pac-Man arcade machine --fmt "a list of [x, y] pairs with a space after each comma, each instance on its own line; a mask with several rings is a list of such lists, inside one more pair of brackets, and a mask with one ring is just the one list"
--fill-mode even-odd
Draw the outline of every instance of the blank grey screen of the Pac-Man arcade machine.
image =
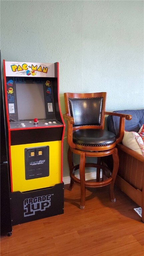
[[43, 84], [16, 83], [19, 120], [46, 119]]

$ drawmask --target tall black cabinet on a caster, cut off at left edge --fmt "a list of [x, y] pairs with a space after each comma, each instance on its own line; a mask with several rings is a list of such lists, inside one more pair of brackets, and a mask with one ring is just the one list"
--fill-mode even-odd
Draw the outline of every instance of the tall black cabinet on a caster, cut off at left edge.
[[2, 73], [0, 58], [0, 234], [11, 236], [10, 188], [8, 174], [8, 157], [6, 147], [5, 115], [3, 107]]

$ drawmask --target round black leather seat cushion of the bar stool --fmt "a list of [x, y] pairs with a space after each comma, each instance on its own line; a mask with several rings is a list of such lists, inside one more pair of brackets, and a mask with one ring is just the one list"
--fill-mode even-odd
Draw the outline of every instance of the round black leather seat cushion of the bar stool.
[[83, 146], [108, 146], [116, 141], [116, 135], [101, 129], [79, 129], [73, 131], [73, 142]]

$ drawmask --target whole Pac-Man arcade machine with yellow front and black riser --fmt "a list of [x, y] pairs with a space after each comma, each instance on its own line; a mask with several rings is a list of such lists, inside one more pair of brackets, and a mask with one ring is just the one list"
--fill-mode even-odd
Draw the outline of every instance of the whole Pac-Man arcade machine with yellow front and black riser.
[[4, 60], [13, 225], [63, 213], [59, 64]]

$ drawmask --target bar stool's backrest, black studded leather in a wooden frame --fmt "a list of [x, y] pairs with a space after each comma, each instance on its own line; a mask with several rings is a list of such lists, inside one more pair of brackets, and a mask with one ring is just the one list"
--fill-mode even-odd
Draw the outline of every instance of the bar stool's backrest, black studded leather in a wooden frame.
[[106, 92], [64, 93], [66, 113], [73, 117], [73, 130], [104, 129]]

